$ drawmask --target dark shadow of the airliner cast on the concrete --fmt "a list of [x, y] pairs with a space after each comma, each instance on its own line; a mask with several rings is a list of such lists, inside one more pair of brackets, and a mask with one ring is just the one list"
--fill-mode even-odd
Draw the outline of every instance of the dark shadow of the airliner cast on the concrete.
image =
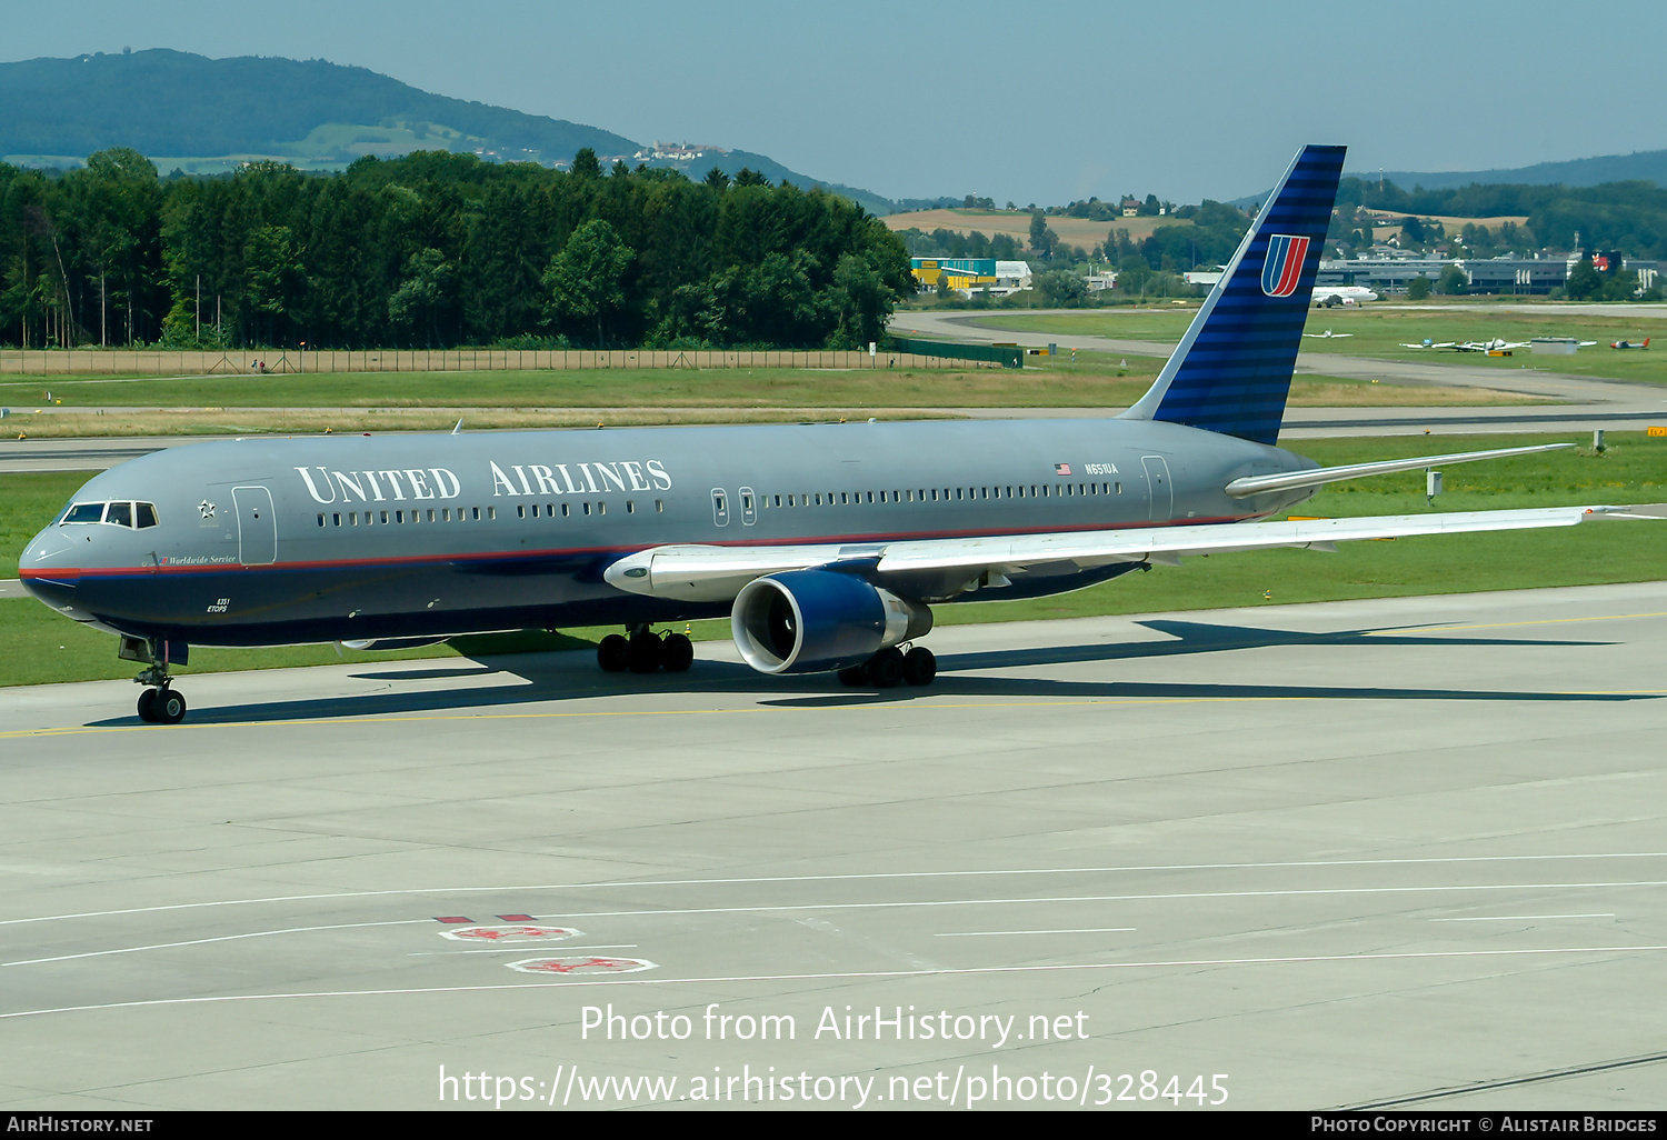
[[[889, 690], [845, 688], [828, 673], [765, 678], [745, 665], [730, 662], [695, 662], [682, 677], [633, 673], [600, 673], [587, 653], [480, 657], [475, 665], [447, 665], [423, 670], [387, 670], [355, 673], [355, 680], [398, 682], [465, 680], [485, 677], [518, 677], [520, 685], [413, 692], [375, 692], [308, 700], [272, 700], [242, 705], [193, 708], [187, 723], [258, 723], [278, 720], [332, 720], [340, 717], [388, 717], [412, 713], [483, 712], [520, 708], [548, 702], [638, 693], [702, 692], [735, 693], [772, 708], [839, 708], [887, 705], [930, 697], [962, 698], [1057, 698], [1057, 700], [1482, 700], [1482, 702], [1629, 702], [1659, 700], [1654, 693], [1582, 693], [1487, 688], [1399, 688], [1385, 685], [1277, 685], [1277, 683], [1190, 683], [1152, 680], [1055, 680], [1044, 677], [990, 677], [1002, 668], [1035, 665], [1069, 665], [1092, 662], [1132, 662], [1185, 653], [1214, 653], [1239, 648], [1270, 647], [1600, 647], [1612, 642], [1525, 640], [1487, 637], [1440, 637], [1432, 633], [1397, 635], [1397, 630], [1429, 630], [1429, 625], [1385, 627], [1307, 633], [1300, 630], [1267, 630], [1200, 622], [1140, 622], [1147, 628], [1170, 633], [1167, 642], [1112, 642], [1095, 645], [1050, 645], [987, 653], [950, 653], [939, 658], [937, 680], [924, 688], [900, 685]], [[1265, 675], [1262, 670], [1259, 673]], [[243, 673], [257, 688], [258, 673]], [[183, 688], [183, 685], [182, 685]], [[760, 692], [762, 690], [762, 692]], [[773, 692], [772, 692], [773, 690]], [[763, 695], [768, 693], [768, 695]], [[778, 693], [778, 695], [777, 695]], [[117, 717], [93, 725], [137, 723], [137, 717]]]

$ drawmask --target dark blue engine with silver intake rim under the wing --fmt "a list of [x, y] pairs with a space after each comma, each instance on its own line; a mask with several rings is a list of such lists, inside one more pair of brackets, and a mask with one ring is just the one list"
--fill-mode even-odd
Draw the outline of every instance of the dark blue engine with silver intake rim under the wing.
[[889, 645], [924, 637], [932, 610], [850, 573], [788, 570], [742, 587], [730, 628], [735, 648], [760, 673], [815, 673], [862, 665]]

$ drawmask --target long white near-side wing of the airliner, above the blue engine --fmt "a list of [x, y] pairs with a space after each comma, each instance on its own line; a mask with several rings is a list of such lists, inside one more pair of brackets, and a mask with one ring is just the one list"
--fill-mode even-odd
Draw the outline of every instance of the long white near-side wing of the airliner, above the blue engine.
[[735, 597], [753, 578], [812, 567], [849, 570], [905, 588], [910, 578], [937, 583], [937, 588], [950, 583], [970, 588], [979, 582], [1005, 585], [1025, 573], [1075, 573], [1119, 562], [1179, 565], [1185, 555], [1274, 547], [1329, 552], [1339, 542], [1362, 538], [1574, 527], [1604, 518], [1667, 518], [1667, 505], [1540, 507], [800, 547], [675, 545], [627, 555], [607, 568], [605, 578], [620, 590], [685, 602], [720, 602]]

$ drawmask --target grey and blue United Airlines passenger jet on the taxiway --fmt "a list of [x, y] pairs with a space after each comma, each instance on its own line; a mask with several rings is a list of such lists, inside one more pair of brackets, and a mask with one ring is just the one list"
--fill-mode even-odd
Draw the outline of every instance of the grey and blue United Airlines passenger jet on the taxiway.
[[[1307, 147], [1152, 390], [1117, 418], [248, 438], [123, 463], [23, 552], [28, 590], [145, 665], [175, 723], [192, 645], [618, 625], [602, 668], [688, 668], [657, 623], [730, 615], [763, 673], [930, 683], [932, 607], [1077, 590], [1182, 555], [1562, 527], [1617, 507], [1264, 522], [1344, 478], [1275, 447], [1342, 147]], [[907, 648], [907, 652], [905, 652]]]

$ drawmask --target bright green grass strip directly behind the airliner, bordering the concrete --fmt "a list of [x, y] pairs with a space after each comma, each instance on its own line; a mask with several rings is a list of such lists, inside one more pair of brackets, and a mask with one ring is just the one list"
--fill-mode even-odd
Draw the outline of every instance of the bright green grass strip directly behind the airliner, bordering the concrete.
[[[1589, 450], [1524, 455], [1445, 470], [1439, 510], [1504, 510], [1570, 503], [1667, 500], [1667, 440], [1610, 433], [1602, 455]], [[1439, 437], [1434, 440], [1304, 440], [1294, 445], [1325, 465], [1409, 455], [1565, 442], [1559, 437]], [[17, 575], [23, 543], [73, 495], [83, 475], [0, 475], [0, 577]], [[1322, 490], [1297, 513], [1322, 517], [1425, 513], [1422, 473], [1385, 475]], [[1344, 543], [1337, 553], [1269, 550], [1192, 558], [1182, 567], [1135, 572], [1089, 590], [1032, 602], [942, 605], [942, 625], [1034, 618], [1204, 610], [1219, 607], [1332, 602], [1342, 598], [1467, 593], [1535, 587], [1654, 582], [1667, 578], [1667, 523], [1604, 522], [1564, 530], [1442, 535]], [[215, 650], [192, 653], [188, 672], [377, 662], [390, 657], [457, 657], [533, 648], [575, 648], [608, 630], [565, 630], [513, 638], [462, 638], [455, 645], [402, 653], [355, 653], [335, 647]], [[722, 620], [695, 622], [697, 640], [728, 637]], [[1039, 638], [1045, 633], [1039, 632]], [[0, 685], [132, 677], [115, 640], [50, 612], [33, 598], [0, 598]]]

